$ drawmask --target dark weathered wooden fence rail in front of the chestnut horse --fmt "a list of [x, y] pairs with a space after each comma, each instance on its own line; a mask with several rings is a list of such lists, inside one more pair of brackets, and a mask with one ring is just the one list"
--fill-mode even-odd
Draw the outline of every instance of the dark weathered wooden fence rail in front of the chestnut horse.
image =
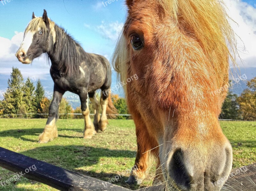
[[[0, 147], [0, 166], [13, 172], [22, 172], [21, 174], [28, 179], [36, 180], [63, 191], [131, 191], [127, 188], [81, 175], [2, 147]], [[225, 185], [225, 190], [255, 191], [255, 174], [256, 164], [233, 170]], [[1, 181], [4, 182], [5, 180]], [[164, 187], [159, 185], [155, 187], [140, 188], [139, 190], [159, 191], [164, 190]]]

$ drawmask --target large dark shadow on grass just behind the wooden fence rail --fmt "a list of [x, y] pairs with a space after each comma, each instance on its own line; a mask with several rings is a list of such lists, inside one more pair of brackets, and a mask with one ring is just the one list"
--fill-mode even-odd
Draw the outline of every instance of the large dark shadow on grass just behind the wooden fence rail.
[[[56, 166], [60, 166], [61, 168], [65, 168], [74, 172], [78, 172], [80, 174], [90, 176], [93, 178], [101, 179], [104, 181], [108, 181], [116, 176], [121, 176], [118, 181], [113, 182], [113, 184], [126, 187], [132, 190], [138, 189], [139, 186], [128, 185], [125, 181], [128, 179], [128, 174], [126, 173], [126, 169], [132, 168], [132, 166], [125, 167], [125, 170], [120, 170], [120, 174], [116, 173], [106, 173], [106, 172], [98, 172], [95, 171], [87, 171], [81, 170], [83, 167], [88, 167], [92, 165], [99, 165], [100, 163], [104, 163], [103, 157], [108, 158], [116, 158], [111, 159], [113, 161], [118, 160], [118, 158], [134, 158], [136, 156], [136, 152], [130, 150], [111, 150], [108, 148], [99, 148], [99, 147], [85, 147], [83, 145], [71, 145], [71, 146], [43, 146], [37, 147], [25, 152], [20, 152], [22, 155], [26, 155], [32, 158], [36, 158], [37, 160], [41, 160]], [[111, 162], [110, 162], [111, 163]], [[114, 163], [114, 162], [113, 162]], [[105, 162], [106, 165], [109, 165], [111, 168], [111, 164], [109, 162]], [[79, 170], [75, 170], [80, 168]], [[111, 171], [111, 169], [108, 169]], [[125, 174], [125, 175], [124, 175]]]

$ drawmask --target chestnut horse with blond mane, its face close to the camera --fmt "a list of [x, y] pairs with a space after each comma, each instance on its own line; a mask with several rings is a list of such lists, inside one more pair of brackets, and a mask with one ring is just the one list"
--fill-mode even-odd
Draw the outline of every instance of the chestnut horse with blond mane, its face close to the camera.
[[218, 116], [227, 95], [228, 60], [235, 61], [234, 33], [222, 3], [126, 4], [113, 62], [122, 81], [138, 76], [124, 88], [138, 143], [128, 183], [144, 178], [150, 151], [158, 160], [154, 183], [161, 179], [168, 188], [220, 190], [232, 169], [232, 147]]

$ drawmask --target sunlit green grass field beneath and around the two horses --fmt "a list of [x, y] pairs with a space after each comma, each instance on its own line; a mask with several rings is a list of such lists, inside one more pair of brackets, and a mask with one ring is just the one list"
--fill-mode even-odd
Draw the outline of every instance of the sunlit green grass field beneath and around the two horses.
[[[114, 184], [137, 189], [125, 183], [136, 155], [135, 127], [132, 120], [109, 120], [108, 129], [92, 139], [83, 138], [82, 119], [59, 120], [59, 137], [38, 144], [46, 119], [0, 119], [0, 146], [62, 168], [107, 181], [124, 175]], [[224, 134], [233, 145], [234, 168], [256, 163], [256, 122], [221, 121]], [[153, 170], [152, 170], [153, 169]], [[152, 168], [150, 171], [154, 171]], [[141, 185], [151, 184], [151, 175]], [[0, 182], [15, 173], [0, 168]], [[26, 178], [2, 187], [1, 191], [52, 191], [49, 186]]]

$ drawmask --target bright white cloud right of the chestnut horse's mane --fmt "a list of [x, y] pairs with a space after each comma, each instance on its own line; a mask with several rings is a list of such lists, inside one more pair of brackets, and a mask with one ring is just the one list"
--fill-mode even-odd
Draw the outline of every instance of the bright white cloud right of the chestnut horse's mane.
[[256, 67], [256, 9], [241, 0], [224, 0], [230, 25], [237, 37], [237, 49], [243, 62], [237, 58], [243, 67]]

